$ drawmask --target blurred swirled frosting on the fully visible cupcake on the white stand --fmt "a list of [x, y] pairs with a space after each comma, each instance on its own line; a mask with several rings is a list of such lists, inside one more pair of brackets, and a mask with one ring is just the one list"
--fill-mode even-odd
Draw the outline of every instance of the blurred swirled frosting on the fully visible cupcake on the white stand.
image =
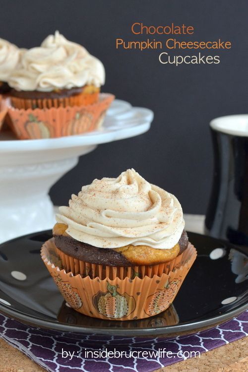
[[21, 66], [11, 73], [8, 84], [16, 90], [50, 92], [105, 82], [102, 62], [81, 45], [66, 40], [58, 31], [41, 47], [23, 54]]

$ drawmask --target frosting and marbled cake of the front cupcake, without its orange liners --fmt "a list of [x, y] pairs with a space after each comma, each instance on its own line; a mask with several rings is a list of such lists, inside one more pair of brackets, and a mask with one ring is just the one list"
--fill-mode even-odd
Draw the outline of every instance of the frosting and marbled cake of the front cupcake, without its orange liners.
[[[129, 169], [117, 179], [94, 180], [60, 207], [53, 229], [65, 269], [75, 261], [140, 267], [165, 264], [188, 246], [182, 207], [169, 192]], [[74, 259], [66, 264], [66, 257]], [[82, 267], [82, 264], [81, 264]], [[85, 272], [80, 271], [81, 275]]]

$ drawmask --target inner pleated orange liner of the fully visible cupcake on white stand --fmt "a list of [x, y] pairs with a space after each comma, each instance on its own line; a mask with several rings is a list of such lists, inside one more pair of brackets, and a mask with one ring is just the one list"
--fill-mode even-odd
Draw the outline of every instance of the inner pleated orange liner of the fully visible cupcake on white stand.
[[99, 92], [80, 93], [70, 97], [49, 99], [23, 99], [11, 97], [11, 105], [16, 109], [51, 109], [52, 107], [87, 106], [98, 101]]

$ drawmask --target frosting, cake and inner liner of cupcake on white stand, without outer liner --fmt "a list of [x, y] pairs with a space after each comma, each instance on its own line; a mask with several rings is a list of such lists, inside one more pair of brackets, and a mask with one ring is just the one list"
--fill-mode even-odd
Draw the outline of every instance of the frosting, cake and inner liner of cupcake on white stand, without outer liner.
[[102, 62], [58, 31], [27, 50], [8, 78], [12, 105], [19, 109], [93, 104], [104, 82]]

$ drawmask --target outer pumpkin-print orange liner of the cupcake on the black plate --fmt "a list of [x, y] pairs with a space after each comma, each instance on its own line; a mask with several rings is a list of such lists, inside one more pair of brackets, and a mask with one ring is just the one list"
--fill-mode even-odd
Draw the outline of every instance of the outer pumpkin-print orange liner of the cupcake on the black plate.
[[184, 264], [178, 262], [172, 271], [160, 276], [91, 279], [62, 268], [53, 239], [41, 249], [42, 259], [69, 306], [84, 315], [108, 320], [143, 319], [168, 309], [196, 258], [190, 243], [184, 253]]

